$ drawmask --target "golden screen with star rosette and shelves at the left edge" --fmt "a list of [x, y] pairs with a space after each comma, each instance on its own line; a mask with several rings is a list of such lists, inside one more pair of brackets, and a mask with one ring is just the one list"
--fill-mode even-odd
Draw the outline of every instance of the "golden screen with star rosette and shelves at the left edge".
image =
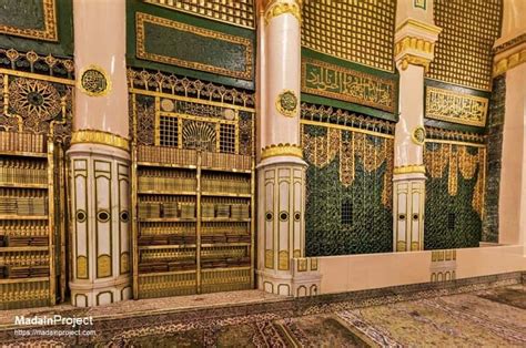
[[7, 57], [13, 70], [0, 69], [0, 309], [49, 306], [65, 293], [64, 146], [74, 82], [14, 71], [24, 61], [32, 70], [41, 59], [34, 52]]

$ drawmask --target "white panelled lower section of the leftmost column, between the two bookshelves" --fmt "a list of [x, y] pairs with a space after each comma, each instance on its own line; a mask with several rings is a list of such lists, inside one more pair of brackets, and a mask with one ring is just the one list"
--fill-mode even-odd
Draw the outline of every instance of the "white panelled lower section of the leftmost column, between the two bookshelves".
[[132, 297], [130, 155], [93, 143], [75, 143], [70, 163], [71, 301], [107, 305]]

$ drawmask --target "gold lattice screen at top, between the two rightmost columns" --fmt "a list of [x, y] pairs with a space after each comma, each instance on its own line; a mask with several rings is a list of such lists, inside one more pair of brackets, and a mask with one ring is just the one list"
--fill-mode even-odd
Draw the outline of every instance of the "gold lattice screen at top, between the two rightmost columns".
[[428, 78], [489, 91], [493, 45], [500, 35], [502, 0], [435, 1], [433, 17], [443, 29]]

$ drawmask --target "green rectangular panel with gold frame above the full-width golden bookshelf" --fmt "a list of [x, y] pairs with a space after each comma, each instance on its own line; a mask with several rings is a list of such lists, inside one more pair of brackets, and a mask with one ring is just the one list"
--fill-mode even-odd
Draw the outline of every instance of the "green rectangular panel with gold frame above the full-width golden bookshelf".
[[[138, 45], [138, 13], [158, 17], [164, 21], [164, 25], [149, 24], [144, 28], [146, 39], [144, 49], [153, 54], [148, 59], [140, 53], [141, 47]], [[127, 61], [129, 65], [171, 72], [237, 89], [254, 89], [255, 32], [253, 30], [152, 6], [140, 0], [127, 1]], [[214, 31], [223, 38], [236, 38], [234, 41], [250, 42], [250, 59], [245, 54], [247, 53], [245, 44], [239, 42], [233, 44], [226, 40], [196, 35], [195, 32], [174, 30], [168, 28], [166, 21], [178, 22], [183, 27], [192, 25], [198, 30]], [[175, 61], [176, 59], [180, 60], [179, 63]], [[218, 69], [215, 71], [203, 69], [200, 64]], [[226, 70], [233, 73], [229, 74]], [[245, 73], [242, 76], [239, 73], [241, 71], [250, 71], [250, 74]]]

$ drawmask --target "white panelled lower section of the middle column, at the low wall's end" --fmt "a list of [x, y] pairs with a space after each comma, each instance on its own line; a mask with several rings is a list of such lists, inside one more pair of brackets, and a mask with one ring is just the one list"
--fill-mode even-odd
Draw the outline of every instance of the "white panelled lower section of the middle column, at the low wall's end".
[[[269, 152], [266, 152], [269, 154]], [[267, 293], [320, 291], [317, 258], [305, 258], [305, 162], [294, 152], [264, 156], [257, 166], [257, 284]]]

